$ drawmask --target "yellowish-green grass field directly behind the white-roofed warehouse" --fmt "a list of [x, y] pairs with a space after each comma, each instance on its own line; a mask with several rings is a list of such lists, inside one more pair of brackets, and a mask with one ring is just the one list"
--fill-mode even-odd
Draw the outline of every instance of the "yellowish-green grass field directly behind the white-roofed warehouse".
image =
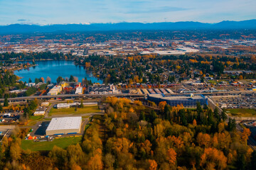
[[80, 115], [84, 113], [97, 113], [100, 112], [98, 106], [85, 106], [84, 108], [78, 108], [77, 111], [75, 111], [75, 108], [52, 108], [50, 109], [49, 115]]

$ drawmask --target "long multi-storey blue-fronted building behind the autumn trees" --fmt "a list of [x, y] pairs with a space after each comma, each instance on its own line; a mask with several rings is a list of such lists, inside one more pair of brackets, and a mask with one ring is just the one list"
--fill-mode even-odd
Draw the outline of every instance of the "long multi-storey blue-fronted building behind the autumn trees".
[[201, 106], [208, 104], [208, 98], [203, 95], [183, 95], [183, 96], [164, 96], [163, 94], [148, 94], [147, 99], [159, 104], [161, 101], [166, 101], [170, 106], [183, 105], [184, 108], [196, 108], [196, 103]]

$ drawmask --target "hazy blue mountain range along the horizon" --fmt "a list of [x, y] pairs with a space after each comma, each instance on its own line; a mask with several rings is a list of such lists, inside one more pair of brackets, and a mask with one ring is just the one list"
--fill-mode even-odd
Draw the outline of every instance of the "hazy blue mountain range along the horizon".
[[176, 23], [92, 23], [55, 24], [49, 26], [11, 24], [0, 26], [0, 34], [6, 33], [53, 33], [105, 30], [238, 30], [256, 29], [256, 20], [222, 21], [220, 23], [176, 22]]

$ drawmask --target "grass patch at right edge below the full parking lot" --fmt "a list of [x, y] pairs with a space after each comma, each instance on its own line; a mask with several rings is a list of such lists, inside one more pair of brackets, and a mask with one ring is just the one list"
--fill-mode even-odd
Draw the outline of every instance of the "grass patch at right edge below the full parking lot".
[[256, 116], [256, 110], [251, 108], [229, 108], [226, 110], [228, 115], [252, 117]]

